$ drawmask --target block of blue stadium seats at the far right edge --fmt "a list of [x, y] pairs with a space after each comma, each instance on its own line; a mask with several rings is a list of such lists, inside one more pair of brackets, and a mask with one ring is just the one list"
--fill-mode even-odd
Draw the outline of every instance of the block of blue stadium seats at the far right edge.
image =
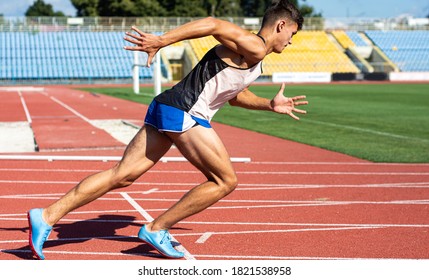
[[429, 31], [367, 31], [401, 71], [429, 71]]

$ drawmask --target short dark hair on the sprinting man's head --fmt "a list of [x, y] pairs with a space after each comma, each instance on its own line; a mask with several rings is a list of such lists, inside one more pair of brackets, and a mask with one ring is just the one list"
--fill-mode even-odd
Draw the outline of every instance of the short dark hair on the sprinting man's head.
[[262, 26], [274, 24], [279, 19], [288, 19], [298, 24], [301, 30], [304, 18], [301, 12], [288, 0], [273, 0], [271, 6], [265, 11]]

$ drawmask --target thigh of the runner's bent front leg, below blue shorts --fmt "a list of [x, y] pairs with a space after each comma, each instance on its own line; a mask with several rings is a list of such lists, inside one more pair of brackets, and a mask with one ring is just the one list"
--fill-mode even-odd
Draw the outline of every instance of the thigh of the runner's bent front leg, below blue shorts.
[[200, 125], [182, 133], [167, 133], [174, 144], [208, 178], [235, 176], [229, 154], [213, 128]]

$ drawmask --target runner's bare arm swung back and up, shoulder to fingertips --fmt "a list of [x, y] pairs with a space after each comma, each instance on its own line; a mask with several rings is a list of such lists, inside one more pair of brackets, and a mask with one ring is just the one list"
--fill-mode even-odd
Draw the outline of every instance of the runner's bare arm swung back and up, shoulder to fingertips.
[[188, 22], [161, 36], [145, 33], [133, 26], [135, 33], [127, 32], [125, 40], [134, 46], [125, 46], [126, 50], [143, 51], [148, 54], [148, 65], [156, 52], [173, 43], [212, 35], [221, 44], [242, 55], [249, 64], [261, 61], [267, 54], [265, 44], [255, 34], [220, 19], [207, 17]]

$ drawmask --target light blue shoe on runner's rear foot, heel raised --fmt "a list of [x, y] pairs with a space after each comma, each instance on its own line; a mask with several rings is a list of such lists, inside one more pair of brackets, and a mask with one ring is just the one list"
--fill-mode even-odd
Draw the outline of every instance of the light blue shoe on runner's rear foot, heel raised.
[[28, 226], [30, 228], [30, 248], [39, 260], [44, 260], [42, 249], [46, 239], [52, 231], [52, 227], [45, 223], [42, 218], [43, 209], [31, 209], [27, 213]]

